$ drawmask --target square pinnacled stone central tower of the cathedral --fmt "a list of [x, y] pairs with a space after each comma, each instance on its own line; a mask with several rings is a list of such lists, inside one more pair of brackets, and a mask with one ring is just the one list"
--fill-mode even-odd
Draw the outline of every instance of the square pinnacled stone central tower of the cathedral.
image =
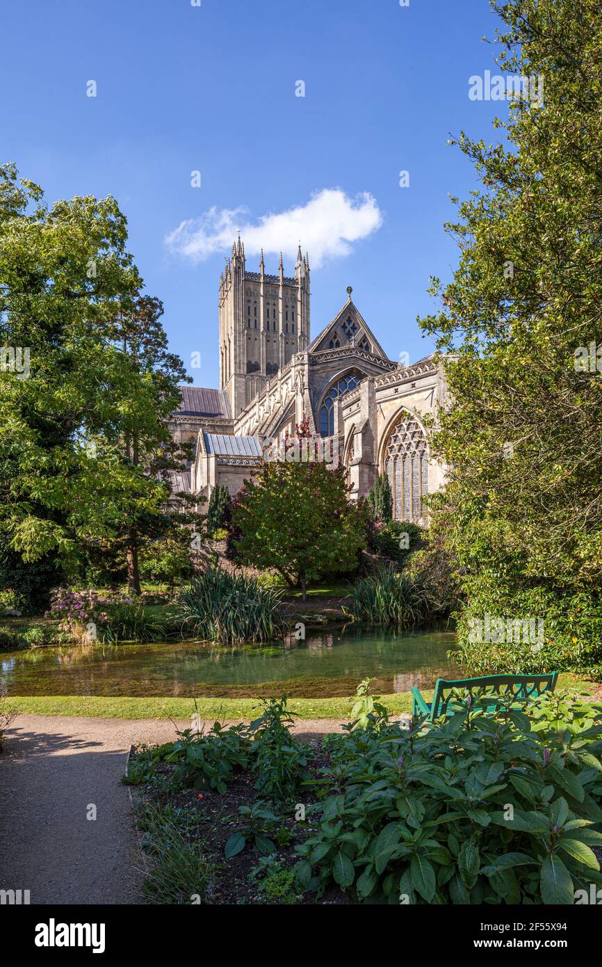
[[219, 388], [232, 416], [244, 410], [266, 382], [309, 345], [309, 260], [297, 252], [294, 278], [247, 272], [239, 236], [219, 278]]

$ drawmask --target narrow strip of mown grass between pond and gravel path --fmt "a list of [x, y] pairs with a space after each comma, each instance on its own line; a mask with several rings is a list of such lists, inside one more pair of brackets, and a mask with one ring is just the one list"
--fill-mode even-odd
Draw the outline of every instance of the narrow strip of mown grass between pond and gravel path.
[[[559, 689], [576, 689], [591, 695], [599, 684], [577, 675], [559, 676]], [[433, 692], [423, 692], [427, 701]], [[10, 696], [7, 700], [16, 712], [38, 716], [87, 716], [90, 718], [190, 718], [195, 711], [191, 698], [107, 698], [94, 695]], [[409, 691], [382, 696], [389, 712], [412, 711]], [[197, 698], [196, 710], [201, 718], [255, 718], [260, 706], [258, 698]], [[300, 718], [336, 718], [348, 721], [351, 704], [348, 698], [291, 698], [288, 708]]]

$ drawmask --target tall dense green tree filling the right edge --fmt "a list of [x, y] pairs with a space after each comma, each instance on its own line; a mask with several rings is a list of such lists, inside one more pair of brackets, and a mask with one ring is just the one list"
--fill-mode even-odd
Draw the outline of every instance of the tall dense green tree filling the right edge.
[[602, 8], [595, 0], [492, 7], [506, 25], [499, 64], [530, 84], [495, 122], [498, 143], [464, 132], [454, 139], [482, 187], [446, 226], [459, 265], [448, 284], [433, 279], [443, 308], [422, 323], [453, 353], [452, 403], [433, 440], [449, 483], [432, 513], [453, 521], [447, 541], [465, 614], [539, 614], [550, 619], [546, 648], [568, 644], [574, 661], [595, 663]]

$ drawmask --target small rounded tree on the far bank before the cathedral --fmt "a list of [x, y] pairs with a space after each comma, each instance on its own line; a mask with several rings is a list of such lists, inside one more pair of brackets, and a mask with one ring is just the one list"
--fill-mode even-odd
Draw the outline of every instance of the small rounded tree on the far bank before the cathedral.
[[238, 558], [274, 568], [293, 587], [329, 571], [349, 571], [366, 544], [366, 514], [349, 501], [343, 467], [266, 461], [234, 499]]

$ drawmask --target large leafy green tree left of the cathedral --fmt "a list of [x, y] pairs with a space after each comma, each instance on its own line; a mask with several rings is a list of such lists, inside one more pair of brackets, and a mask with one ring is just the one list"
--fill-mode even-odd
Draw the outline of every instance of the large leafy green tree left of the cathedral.
[[170, 525], [183, 369], [126, 243], [115, 199], [48, 208], [0, 166], [0, 532], [25, 563], [71, 571], [122, 542], [136, 591], [132, 548]]

